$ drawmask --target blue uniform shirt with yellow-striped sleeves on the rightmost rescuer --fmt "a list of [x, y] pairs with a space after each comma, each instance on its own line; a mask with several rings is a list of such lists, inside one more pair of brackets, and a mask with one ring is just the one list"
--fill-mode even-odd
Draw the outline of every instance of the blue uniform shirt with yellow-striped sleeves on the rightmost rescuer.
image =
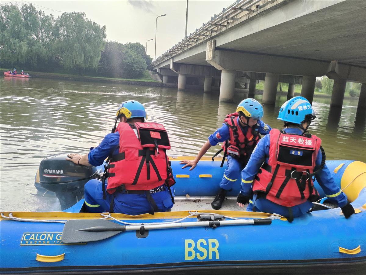
[[[302, 130], [298, 128], [285, 128], [283, 131], [285, 133], [294, 133], [298, 135], [302, 134]], [[258, 170], [262, 166], [263, 162], [265, 161], [268, 163], [269, 141], [270, 135], [266, 135], [261, 140], [259, 140], [257, 146], [254, 148], [254, 151], [250, 156], [247, 166], [242, 171], [242, 187], [240, 192], [245, 196], [251, 195], [254, 177], [257, 175]], [[315, 161], [315, 170], [317, 170], [321, 165], [321, 161], [322, 153], [319, 150], [317, 159]], [[347, 196], [341, 192], [326, 165], [324, 165], [322, 170], [315, 174], [315, 178], [329, 199], [336, 201], [339, 207], [343, 207], [347, 204]]]

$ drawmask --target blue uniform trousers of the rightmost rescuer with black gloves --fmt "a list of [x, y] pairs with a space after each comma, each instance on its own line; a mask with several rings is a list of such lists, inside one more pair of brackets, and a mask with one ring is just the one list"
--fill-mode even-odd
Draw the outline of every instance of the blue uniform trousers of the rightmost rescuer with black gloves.
[[[250, 203], [251, 204], [251, 203]], [[289, 217], [290, 213], [288, 208], [272, 201], [269, 201], [266, 198], [258, 198], [257, 195], [253, 195], [253, 204], [248, 205], [247, 211], [253, 211], [253, 208], [256, 211], [265, 212], [265, 213], [276, 213], [284, 217]], [[303, 202], [299, 205], [295, 205], [291, 207], [292, 216], [299, 217], [305, 214], [313, 207], [313, 203], [311, 201]]]

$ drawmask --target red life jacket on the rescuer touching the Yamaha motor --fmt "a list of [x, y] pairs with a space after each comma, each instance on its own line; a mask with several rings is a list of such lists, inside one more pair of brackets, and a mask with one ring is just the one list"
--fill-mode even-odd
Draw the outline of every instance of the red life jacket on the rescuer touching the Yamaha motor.
[[126, 190], [151, 190], [164, 183], [168, 187], [175, 184], [166, 154], [170, 142], [162, 124], [120, 122], [117, 132], [119, 154], [107, 166], [110, 194], [120, 186]]

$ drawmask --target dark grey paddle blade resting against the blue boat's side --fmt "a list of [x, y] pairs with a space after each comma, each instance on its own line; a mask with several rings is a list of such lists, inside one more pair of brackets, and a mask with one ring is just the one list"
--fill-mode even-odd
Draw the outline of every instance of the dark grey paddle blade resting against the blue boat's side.
[[[98, 230], [82, 231], [89, 228], [98, 228]], [[103, 228], [106, 230], [104, 231]], [[64, 243], [100, 241], [117, 235], [124, 231], [124, 228], [125, 227], [123, 225], [107, 220], [68, 220], [64, 225], [61, 241]]]

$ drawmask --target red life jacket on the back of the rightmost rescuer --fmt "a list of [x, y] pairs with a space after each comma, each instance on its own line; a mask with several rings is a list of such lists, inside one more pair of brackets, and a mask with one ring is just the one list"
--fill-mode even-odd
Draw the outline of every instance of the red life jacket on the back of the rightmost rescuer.
[[321, 139], [278, 129], [272, 129], [269, 134], [268, 164], [264, 163], [259, 169], [253, 192], [265, 194], [266, 199], [282, 206], [299, 205], [316, 194], [309, 174], [314, 172]]

